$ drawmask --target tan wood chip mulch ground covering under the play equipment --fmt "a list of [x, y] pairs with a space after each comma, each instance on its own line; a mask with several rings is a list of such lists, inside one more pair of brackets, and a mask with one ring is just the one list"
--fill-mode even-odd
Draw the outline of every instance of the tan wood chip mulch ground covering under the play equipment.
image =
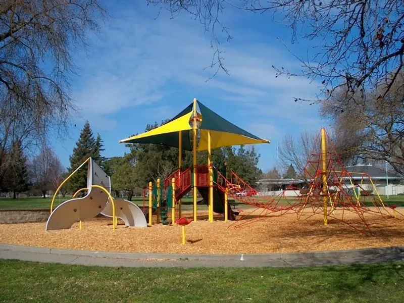
[[[183, 212], [191, 217], [191, 212]], [[324, 226], [321, 216], [296, 219], [296, 215], [272, 217], [227, 228], [231, 221], [206, 220], [186, 227], [187, 244], [181, 244], [180, 226], [153, 225], [148, 228], [125, 227], [112, 231], [111, 219], [93, 219], [71, 229], [45, 232], [45, 223], [0, 224], [0, 242], [26, 246], [70, 248], [97, 251], [164, 252], [176, 254], [260, 254], [270, 252], [322, 251], [354, 248], [404, 246], [404, 223], [373, 215], [366, 217], [374, 236], [330, 219]], [[215, 217], [223, 220], [223, 216]], [[358, 224], [356, 214], [345, 219]], [[120, 222], [122, 223], [122, 222]]]

